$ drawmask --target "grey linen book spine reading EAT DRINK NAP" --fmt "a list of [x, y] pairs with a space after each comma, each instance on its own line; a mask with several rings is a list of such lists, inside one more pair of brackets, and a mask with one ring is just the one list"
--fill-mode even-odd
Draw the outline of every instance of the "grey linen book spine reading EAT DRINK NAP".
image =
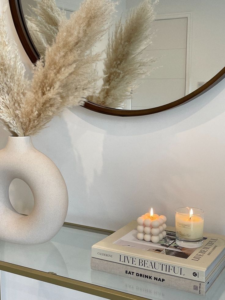
[[205, 296], [205, 282], [197, 280], [177, 278], [172, 275], [122, 265], [94, 257], [91, 258], [91, 269]]

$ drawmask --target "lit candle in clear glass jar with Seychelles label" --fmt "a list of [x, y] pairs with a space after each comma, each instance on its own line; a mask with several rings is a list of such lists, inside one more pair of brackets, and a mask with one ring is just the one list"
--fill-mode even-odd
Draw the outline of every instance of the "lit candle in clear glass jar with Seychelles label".
[[204, 211], [195, 207], [176, 209], [176, 243], [185, 248], [202, 246]]

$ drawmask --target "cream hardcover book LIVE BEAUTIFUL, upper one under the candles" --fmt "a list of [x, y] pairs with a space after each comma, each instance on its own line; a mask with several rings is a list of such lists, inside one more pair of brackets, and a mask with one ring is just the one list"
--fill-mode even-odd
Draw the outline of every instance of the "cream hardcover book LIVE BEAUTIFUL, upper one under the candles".
[[91, 256], [142, 269], [205, 282], [225, 255], [225, 236], [204, 234], [199, 248], [175, 243], [175, 228], [154, 244], [137, 239], [137, 222], [132, 221], [92, 246]]

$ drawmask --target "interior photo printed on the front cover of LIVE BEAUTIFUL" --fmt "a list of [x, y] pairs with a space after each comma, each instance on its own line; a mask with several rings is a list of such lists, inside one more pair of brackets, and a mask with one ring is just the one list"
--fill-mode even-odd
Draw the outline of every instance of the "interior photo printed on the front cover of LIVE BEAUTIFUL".
[[137, 233], [138, 231], [134, 229], [113, 244], [181, 258], [188, 258], [196, 250], [196, 248], [184, 248], [178, 246], [175, 242], [175, 232], [172, 231], [167, 231], [167, 236], [156, 244], [138, 240]]

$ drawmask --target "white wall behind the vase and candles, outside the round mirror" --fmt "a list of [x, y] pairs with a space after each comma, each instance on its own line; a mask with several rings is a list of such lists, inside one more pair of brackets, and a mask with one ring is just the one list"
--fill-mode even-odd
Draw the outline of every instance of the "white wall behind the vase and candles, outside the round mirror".
[[[7, 15], [10, 36], [17, 42]], [[205, 210], [205, 230], [225, 234], [225, 81], [174, 109], [114, 117], [65, 110], [33, 138], [61, 170], [69, 193], [66, 221], [116, 230], [151, 206], [174, 225], [174, 210]], [[0, 146], [8, 133], [0, 130]]]

